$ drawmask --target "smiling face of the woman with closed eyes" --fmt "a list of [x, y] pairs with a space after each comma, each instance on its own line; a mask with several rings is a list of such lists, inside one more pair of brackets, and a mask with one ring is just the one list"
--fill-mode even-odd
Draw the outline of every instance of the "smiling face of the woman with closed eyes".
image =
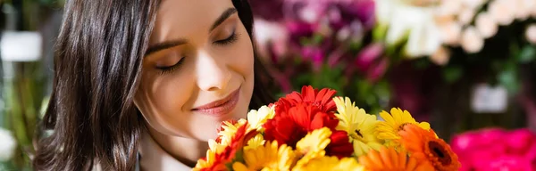
[[206, 141], [245, 118], [254, 55], [230, 0], [163, 0], [135, 104], [159, 134]]

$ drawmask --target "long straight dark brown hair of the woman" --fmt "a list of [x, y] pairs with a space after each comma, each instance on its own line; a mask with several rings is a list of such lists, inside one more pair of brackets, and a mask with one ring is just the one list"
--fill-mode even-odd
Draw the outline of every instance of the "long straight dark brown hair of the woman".
[[[232, 0], [253, 40], [247, 0]], [[133, 104], [156, 0], [70, 0], [57, 39], [51, 100], [33, 161], [36, 170], [131, 170], [144, 120]], [[255, 55], [250, 109], [272, 102]]]

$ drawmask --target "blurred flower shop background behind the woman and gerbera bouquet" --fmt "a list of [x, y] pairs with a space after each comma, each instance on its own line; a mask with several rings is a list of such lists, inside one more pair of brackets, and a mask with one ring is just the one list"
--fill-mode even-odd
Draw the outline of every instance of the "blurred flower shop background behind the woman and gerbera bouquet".
[[[330, 87], [431, 122], [462, 170], [536, 169], [536, 0], [249, 1], [273, 94]], [[0, 170], [32, 170], [63, 4], [0, 0]]]

